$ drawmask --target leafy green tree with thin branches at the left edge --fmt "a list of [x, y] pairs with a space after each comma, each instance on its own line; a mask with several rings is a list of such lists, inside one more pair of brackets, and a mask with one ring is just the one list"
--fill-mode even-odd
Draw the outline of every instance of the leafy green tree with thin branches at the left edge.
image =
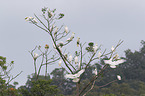
[[14, 85], [9, 84], [9, 82], [14, 78], [9, 76], [8, 73], [12, 68], [8, 69], [8, 67], [13, 63], [14, 61], [11, 61], [10, 64], [7, 64], [6, 57], [0, 56], [0, 96], [21, 96], [18, 90], [15, 89], [16, 82]]

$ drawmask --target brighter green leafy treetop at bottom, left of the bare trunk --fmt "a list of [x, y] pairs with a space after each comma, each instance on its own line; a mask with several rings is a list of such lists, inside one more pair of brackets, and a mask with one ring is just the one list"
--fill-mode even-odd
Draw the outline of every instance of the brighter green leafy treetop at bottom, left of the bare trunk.
[[19, 87], [19, 91], [23, 96], [58, 96], [60, 91], [51, 82], [50, 76], [40, 75], [38, 80], [35, 75], [32, 78], [29, 76], [26, 86]]

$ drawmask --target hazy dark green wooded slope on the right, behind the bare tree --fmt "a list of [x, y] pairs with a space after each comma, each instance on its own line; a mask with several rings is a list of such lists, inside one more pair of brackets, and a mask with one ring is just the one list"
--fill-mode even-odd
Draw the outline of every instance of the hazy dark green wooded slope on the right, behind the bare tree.
[[[139, 51], [131, 52], [131, 50], [126, 50], [126, 62], [113, 70], [111, 68], [107, 68], [104, 71], [104, 74], [102, 74], [102, 77], [97, 79], [94, 88], [86, 96], [144, 96], [145, 42], [142, 41], [141, 44], [143, 45]], [[89, 82], [89, 78], [91, 77], [90, 73], [94, 70], [94, 68], [100, 70], [101, 66], [104, 65], [103, 63], [103, 60], [101, 60], [100, 63], [96, 63], [94, 66], [88, 66], [88, 69], [82, 78], [84, 86], [87, 82]], [[117, 74], [121, 74], [121, 81], [104, 86], [105, 84], [116, 80]], [[89, 88], [87, 90], [89, 90]], [[72, 89], [75, 89], [75, 87]], [[73, 90], [71, 95], [69, 94], [67, 96], [75, 96], [75, 90]]]

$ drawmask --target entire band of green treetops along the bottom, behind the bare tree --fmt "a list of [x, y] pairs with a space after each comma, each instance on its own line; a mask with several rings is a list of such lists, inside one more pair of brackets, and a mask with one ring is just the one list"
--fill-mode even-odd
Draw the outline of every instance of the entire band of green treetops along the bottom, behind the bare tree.
[[[141, 45], [142, 47], [139, 51], [132, 52], [130, 49], [126, 50], [126, 62], [113, 70], [108, 67], [104, 74], [97, 79], [94, 88], [86, 96], [145, 96], [145, 41], [141, 41]], [[91, 47], [91, 43], [89, 46]], [[107, 59], [107, 57], [104, 59]], [[82, 87], [93, 76], [92, 71], [95, 68], [99, 71], [103, 65], [102, 59], [100, 63], [88, 66], [84, 77], [82, 77]], [[6, 58], [0, 56], [0, 67], [2, 70], [6, 70], [3, 66], [7, 67]], [[50, 74], [52, 78], [50, 78], [50, 75], [40, 75], [37, 80], [34, 74], [32, 74], [28, 76], [24, 86], [16, 89], [18, 82], [14, 82], [13, 85], [7, 84], [1, 71], [0, 96], [76, 96], [76, 85], [71, 80], [65, 79], [66, 70], [64, 68], [56, 68]], [[121, 74], [122, 80], [109, 83], [117, 79], [117, 74]]]

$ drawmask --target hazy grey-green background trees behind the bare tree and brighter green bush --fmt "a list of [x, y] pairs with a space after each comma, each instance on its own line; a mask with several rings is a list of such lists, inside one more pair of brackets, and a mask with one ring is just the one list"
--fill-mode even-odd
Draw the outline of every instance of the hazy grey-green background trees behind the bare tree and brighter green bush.
[[[87, 93], [86, 96], [144, 96], [145, 81], [142, 79], [144, 78], [144, 75], [139, 74], [140, 72], [144, 73], [145, 69], [143, 67], [145, 64], [143, 55], [145, 54], [143, 51], [145, 50], [144, 41], [141, 42], [141, 45], [142, 47], [139, 51], [132, 52], [131, 50], [126, 50], [126, 56], [124, 57], [124, 59], [126, 59], [126, 62], [118, 65], [116, 69], [111, 69], [110, 67], [106, 68], [104, 74], [102, 74], [101, 77], [96, 80], [93, 89], [89, 93]], [[80, 88], [83, 88], [89, 82], [89, 78], [93, 76], [93, 71], [95, 68], [97, 68], [98, 72], [99, 70], [101, 70], [102, 66], [105, 65], [104, 60], [107, 59], [108, 57], [104, 57], [100, 59], [99, 62], [88, 65], [88, 68], [84, 72], [84, 77], [82, 77], [82, 86]], [[140, 63], [136, 63], [136, 61]], [[74, 82], [72, 82], [72, 80], [66, 79], [64, 77], [65, 74], [66, 70], [64, 68], [54, 69], [51, 72], [52, 82], [49, 84], [49, 86], [58, 86], [58, 89], [61, 90], [58, 92], [58, 94], [63, 94], [65, 96], [76, 96], [76, 85]], [[123, 77], [121, 81], [117, 81], [117, 74], [120, 74]], [[137, 77], [135, 78], [135, 76]], [[44, 75], [40, 75], [39, 77], [42, 77], [41, 79], [45, 79]], [[29, 76], [27, 84], [30, 84], [30, 86], [32, 86], [32, 83], [30, 83], [31, 80], [35, 80], [35, 77], [32, 78], [31, 76]], [[48, 76], [47, 80], [50, 80], [50, 76]], [[25, 88], [27, 87], [25, 86]], [[87, 90], [89, 90], [90, 88], [91, 87], [89, 86]], [[87, 90], [85, 92], [87, 92]], [[30, 92], [28, 93], [30, 94]]]

